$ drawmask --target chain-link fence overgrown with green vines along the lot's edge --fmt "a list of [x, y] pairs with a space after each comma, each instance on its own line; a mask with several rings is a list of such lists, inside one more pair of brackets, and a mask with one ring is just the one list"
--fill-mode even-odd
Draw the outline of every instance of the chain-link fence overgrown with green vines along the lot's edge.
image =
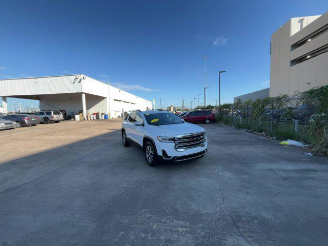
[[280, 96], [222, 105], [218, 121], [279, 139], [309, 142], [311, 122], [320, 117], [301, 96]]

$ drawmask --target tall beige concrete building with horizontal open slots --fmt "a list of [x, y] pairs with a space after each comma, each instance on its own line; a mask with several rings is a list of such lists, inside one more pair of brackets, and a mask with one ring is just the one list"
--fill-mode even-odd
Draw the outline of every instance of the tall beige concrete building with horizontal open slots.
[[270, 96], [328, 85], [328, 12], [291, 18], [271, 36]]

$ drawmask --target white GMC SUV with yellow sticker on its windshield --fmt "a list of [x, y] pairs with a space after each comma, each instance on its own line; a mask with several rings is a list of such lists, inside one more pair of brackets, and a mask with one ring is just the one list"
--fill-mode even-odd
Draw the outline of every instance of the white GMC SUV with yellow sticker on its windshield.
[[127, 114], [122, 122], [122, 142], [129, 147], [132, 141], [142, 147], [152, 167], [163, 160], [190, 160], [207, 153], [205, 129], [167, 111]]

